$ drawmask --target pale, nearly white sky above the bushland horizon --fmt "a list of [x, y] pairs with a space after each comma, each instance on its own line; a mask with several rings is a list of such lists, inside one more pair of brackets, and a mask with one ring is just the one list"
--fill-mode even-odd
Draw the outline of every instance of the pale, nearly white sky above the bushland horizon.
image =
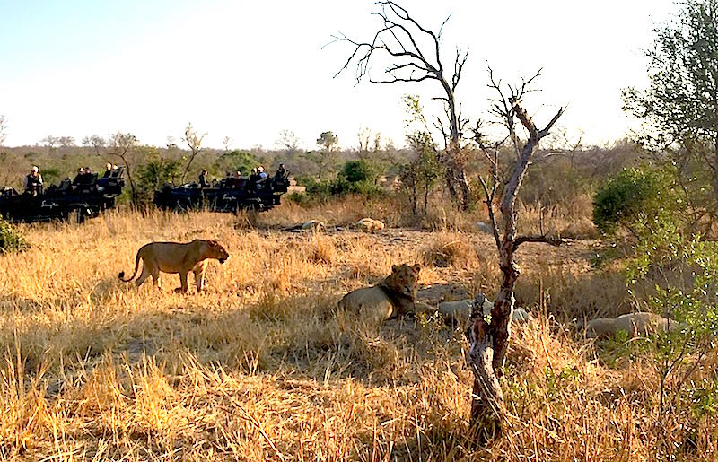
[[[620, 90], [644, 87], [642, 49], [677, 6], [668, 0], [406, 0], [418, 22], [444, 28], [444, 66], [468, 48], [457, 99], [485, 117], [486, 62], [505, 81], [543, 67], [543, 89], [526, 101], [538, 126], [568, 105], [560, 124], [584, 142], [622, 137], [631, 123]], [[429, 113], [435, 83], [354, 86], [333, 78], [352, 48], [322, 46], [338, 31], [368, 40], [372, 0], [0, 0], [0, 115], [6, 145], [46, 135], [136, 135], [179, 143], [192, 122], [206, 145], [272, 149], [280, 130], [315, 148], [322, 131], [343, 147], [361, 127], [405, 143], [401, 96], [419, 93]], [[377, 62], [375, 65], [379, 65]], [[541, 110], [538, 110], [541, 108]], [[437, 112], [438, 113], [438, 112]], [[430, 115], [430, 114], [428, 114]], [[635, 124], [635, 122], [634, 122]]]

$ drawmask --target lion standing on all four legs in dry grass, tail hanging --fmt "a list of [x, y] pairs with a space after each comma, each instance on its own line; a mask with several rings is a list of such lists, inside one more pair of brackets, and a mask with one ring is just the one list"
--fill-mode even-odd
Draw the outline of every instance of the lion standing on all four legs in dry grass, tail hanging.
[[135, 273], [128, 279], [125, 279], [125, 272], [121, 272], [118, 277], [120, 280], [129, 283], [137, 275], [137, 269], [140, 266], [140, 259], [144, 262], [142, 274], [137, 278], [136, 285], [139, 286], [152, 276], [153, 283], [156, 287], [160, 287], [160, 272], [162, 273], [179, 273], [181, 287], [175, 289], [175, 292], [187, 292], [187, 277], [190, 271], [195, 274], [195, 283], [197, 284], [197, 292], [202, 292], [205, 284], [205, 270], [210, 258], [224, 260], [230, 255], [216, 240], [196, 239], [188, 244], [180, 244], [179, 242], [150, 242], [145, 244], [137, 251], [135, 260]]

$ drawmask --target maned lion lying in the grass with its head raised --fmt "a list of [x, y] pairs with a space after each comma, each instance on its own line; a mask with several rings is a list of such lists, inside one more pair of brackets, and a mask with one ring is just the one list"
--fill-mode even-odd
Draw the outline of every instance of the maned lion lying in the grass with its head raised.
[[416, 303], [420, 271], [418, 264], [394, 265], [391, 274], [381, 283], [347, 293], [338, 307], [361, 313], [377, 324], [401, 314], [416, 312], [417, 308], [424, 306], [423, 303]]

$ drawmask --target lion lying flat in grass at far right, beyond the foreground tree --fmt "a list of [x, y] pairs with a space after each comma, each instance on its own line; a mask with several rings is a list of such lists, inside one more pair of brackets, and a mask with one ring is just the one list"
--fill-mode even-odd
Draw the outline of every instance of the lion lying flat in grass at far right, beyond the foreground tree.
[[673, 332], [687, 328], [682, 322], [653, 313], [631, 313], [617, 318], [596, 318], [586, 323], [586, 336], [606, 338], [625, 330], [629, 336]]

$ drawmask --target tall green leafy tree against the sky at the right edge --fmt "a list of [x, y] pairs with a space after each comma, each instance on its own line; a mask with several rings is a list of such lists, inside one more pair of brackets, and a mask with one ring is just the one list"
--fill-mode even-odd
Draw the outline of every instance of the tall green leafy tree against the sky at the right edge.
[[718, 0], [680, 5], [646, 51], [648, 88], [627, 88], [623, 100], [642, 119], [638, 141], [677, 167], [698, 223], [714, 218], [718, 186]]

